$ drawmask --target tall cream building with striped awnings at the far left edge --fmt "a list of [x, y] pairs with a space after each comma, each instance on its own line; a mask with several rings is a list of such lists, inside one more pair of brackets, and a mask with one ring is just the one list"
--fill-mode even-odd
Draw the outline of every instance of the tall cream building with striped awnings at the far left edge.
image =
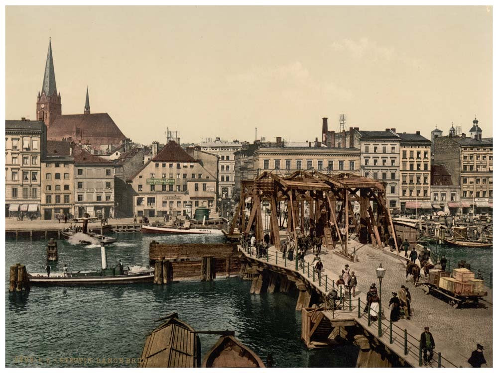
[[46, 139], [42, 121], [5, 120], [5, 217], [40, 216], [40, 163]]

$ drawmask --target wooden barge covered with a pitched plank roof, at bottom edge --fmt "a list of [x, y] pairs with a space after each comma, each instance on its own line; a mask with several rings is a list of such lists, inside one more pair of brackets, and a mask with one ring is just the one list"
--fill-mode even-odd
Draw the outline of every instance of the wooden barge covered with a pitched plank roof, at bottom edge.
[[201, 341], [176, 312], [147, 336], [138, 368], [199, 368]]

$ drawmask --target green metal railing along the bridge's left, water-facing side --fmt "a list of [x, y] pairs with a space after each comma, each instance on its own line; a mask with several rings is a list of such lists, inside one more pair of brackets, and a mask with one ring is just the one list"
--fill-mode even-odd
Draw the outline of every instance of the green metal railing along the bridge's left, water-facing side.
[[[410, 355], [414, 358], [418, 358], [419, 366], [422, 366], [422, 353], [423, 348], [420, 339], [416, 336], [411, 335], [406, 329], [399, 327], [394, 324], [391, 320], [383, 319], [382, 317], [371, 317], [371, 308], [368, 303], [363, 302], [360, 298], [358, 301], [353, 301], [351, 292], [348, 292], [346, 287], [342, 284], [337, 284], [333, 279], [330, 279], [327, 274], [322, 274], [321, 272], [315, 271], [312, 264], [304, 259], [298, 260], [297, 256], [292, 256], [289, 258], [288, 253], [279, 252], [276, 250], [263, 250], [261, 253], [257, 253], [255, 247], [250, 246], [245, 240], [240, 242], [244, 251], [251, 257], [261, 262], [266, 262], [268, 264], [277, 265], [285, 267], [287, 269], [293, 270], [306, 278], [308, 281], [312, 282], [315, 287], [320, 291], [325, 292], [328, 297], [331, 290], [337, 292], [337, 303], [332, 307], [332, 312], [335, 314], [336, 309], [340, 309], [341, 313], [351, 312], [354, 314], [355, 318], [362, 319], [363, 317], [368, 318], [368, 326], [373, 329], [373, 334], [379, 337], [383, 336], [387, 331], [389, 332], [389, 344], [397, 344], [404, 350], [404, 355]], [[322, 270], [323, 271], [323, 270]], [[353, 303], [357, 303], [356, 305]], [[339, 308], [340, 307], [340, 308]], [[362, 309], [366, 312], [362, 312]], [[379, 310], [381, 312], [383, 310]], [[367, 315], [364, 315], [366, 313]], [[378, 325], [380, 323], [380, 326]], [[377, 332], [377, 333], [375, 333]], [[401, 342], [402, 341], [402, 342]], [[401, 345], [402, 343], [402, 345]], [[440, 352], [434, 351], [434, 355], [437, 357], [438, 368], [458, 368], [455, 364], [445, 359]], [[444, 363], [444, 364], [443, 364]]]

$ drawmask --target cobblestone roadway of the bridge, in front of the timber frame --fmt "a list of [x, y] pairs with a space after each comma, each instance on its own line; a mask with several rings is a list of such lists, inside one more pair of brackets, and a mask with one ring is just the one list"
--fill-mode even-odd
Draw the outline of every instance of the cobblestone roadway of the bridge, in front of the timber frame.
[[[386, 270], [382, 280], [382, 309], [387, 319], [390, 312], [387, 306], [391, 292], [397, 292], [400, 286], [404, 284], [410, 289], [413, 315], [411, 320], [401, 319], [397, 321], [397, 326], [412, 330], [413, 326], [415, 326], [419, 330], [419, 334], [416, 335], [417, 338], [423, 332], [424, 327], [429, 326], [434, 336], [436, 350], [442, 351], [443, 356], [445, 356], [444, 346], [453, 344], [453, 350], [461, 355], [460, 359], [458, 359], [459, 361], [466, 362], [472, 351], [476, 349], [476, 344], [480, 343], [485, 347], [484, 354], [488, 362], [487, 367], [493, 366], [493, 307], [491, 304], [481, 302], [481, 306], [487, 308], [455, 309], [446, 301], [433, 295], [425, 294], [421, 286], [415, 287], [411, 276], [408, 277], [408, 282], [406, 282], [404, 258], [389, 255], [370, 245], [350, 241], [350, 252], [353, 252], [355, 247], [358, 263], [351, 263], [330, 251], [322, 251], [320, 257], [324, 264], [324, 269], [339, 275], [344, 266], [349, 264], [351, 271], [356, 272], [358, 278], [357, 288], [362, 292], [360, 296], [364, 299], [373, 282], [376, 283], [378, 288], [375, 269], [381, 263]], [[312, 259], [312, 254], [306, 256], [306, 261], [311, 262]], [[423, 274], [421, 276], [421, 281], [423, 281]], [[337, 280], [337, 277], [335, 280]], [[464, 365], [464, 367], [468, 367], [468, 365]]]

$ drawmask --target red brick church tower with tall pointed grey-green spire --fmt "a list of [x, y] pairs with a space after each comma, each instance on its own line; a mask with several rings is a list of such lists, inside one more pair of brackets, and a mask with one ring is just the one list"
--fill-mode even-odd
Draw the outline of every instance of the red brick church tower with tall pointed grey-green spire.
[[61, 94], [57, 93], [57, 86], [55, 85], [52, 43], [49, 39], [47, 62], [45, 64], [45, 73], [43, 75], [43, 86], [41, 87], [41, 93], [38, 92], [38, 99], [36, 101], [36, 119], [42, 120], [48, 128], [54, 122], [55, 117], [61, 114]]

